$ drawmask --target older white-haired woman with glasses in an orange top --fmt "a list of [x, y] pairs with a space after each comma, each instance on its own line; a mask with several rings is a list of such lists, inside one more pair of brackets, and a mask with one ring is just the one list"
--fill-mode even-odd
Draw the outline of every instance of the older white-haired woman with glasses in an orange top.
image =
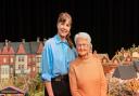
[[90, 36], [77, 33], [75, 44], [78, 57], [70, 65], [72, 96], [106, 96], [106, 79], [100, 58], [90, 51]]

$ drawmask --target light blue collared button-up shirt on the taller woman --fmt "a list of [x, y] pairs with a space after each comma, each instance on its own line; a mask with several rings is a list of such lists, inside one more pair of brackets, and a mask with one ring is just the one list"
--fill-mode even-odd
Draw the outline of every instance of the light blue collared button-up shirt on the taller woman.
[[67, 74], [70, 63], [76, 57], [75, 49], [67, 41], [61, 41], [59, 35], [46, 41], [41, 59], [41, 79], [51, 81], [60, 74]]

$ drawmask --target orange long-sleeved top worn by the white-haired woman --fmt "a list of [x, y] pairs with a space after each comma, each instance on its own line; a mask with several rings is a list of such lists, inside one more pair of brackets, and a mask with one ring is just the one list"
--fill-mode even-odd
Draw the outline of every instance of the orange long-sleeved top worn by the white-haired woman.
[[72, 96], [106, 96], [106, 79], [96, 56], [76, 58], [70, 66]]

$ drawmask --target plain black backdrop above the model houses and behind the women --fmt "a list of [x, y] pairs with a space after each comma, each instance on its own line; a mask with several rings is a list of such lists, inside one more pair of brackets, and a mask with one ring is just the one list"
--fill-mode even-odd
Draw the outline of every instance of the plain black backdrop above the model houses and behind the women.
[[72, 38], [89, 32], [99, 53], [112, 57], [139, 44], [139, 0], [0, 0], [0, 42], [53, 37], [65, 11], [73, 17]]

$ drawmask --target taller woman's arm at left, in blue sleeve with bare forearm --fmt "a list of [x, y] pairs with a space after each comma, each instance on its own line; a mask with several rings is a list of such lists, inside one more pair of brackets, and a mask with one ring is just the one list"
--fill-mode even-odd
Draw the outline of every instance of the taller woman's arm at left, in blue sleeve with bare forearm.
[[52, 55], [51, 46], [49, 42], [46, 42], [41, 58], [41, 78], [49, 96], [54, 96], [51, 85]]

